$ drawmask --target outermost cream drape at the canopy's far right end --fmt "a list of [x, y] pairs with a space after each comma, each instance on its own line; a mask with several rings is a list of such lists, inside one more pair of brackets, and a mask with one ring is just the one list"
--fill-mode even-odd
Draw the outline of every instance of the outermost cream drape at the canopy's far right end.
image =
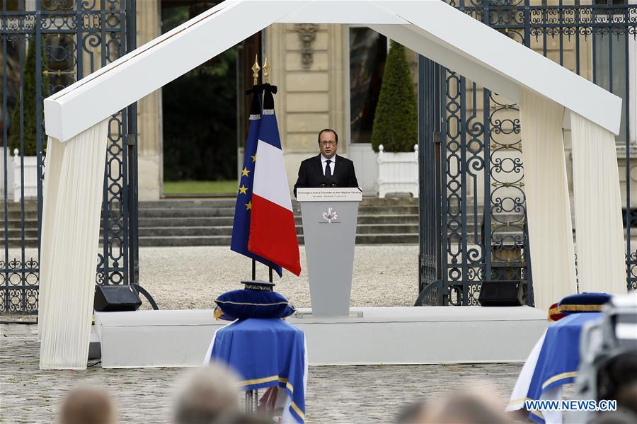
[[626, 293], [615, 137], [570, 112], [580, 292]]

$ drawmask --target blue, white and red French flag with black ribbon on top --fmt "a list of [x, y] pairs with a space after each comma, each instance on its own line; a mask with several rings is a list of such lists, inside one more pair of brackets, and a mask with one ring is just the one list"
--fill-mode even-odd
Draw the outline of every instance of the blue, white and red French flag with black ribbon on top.
[[273, 86], [265, 84], [254, 170], [248, 250], [271, 260], [294, 275], [299, 275], [299, 241], [274, 111], [274, 90]]

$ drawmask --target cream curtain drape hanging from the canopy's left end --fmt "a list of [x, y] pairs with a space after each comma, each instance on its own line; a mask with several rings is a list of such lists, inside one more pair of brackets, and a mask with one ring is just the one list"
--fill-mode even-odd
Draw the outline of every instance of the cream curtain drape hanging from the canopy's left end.
[[108, 120], [49, 137], [40, 246], [40, 369], [84, 369], [91, 335]]

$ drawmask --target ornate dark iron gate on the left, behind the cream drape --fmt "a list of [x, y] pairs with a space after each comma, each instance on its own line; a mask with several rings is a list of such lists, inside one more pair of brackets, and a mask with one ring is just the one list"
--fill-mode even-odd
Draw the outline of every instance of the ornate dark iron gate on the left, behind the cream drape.
[[[30, 5], [33, 10], [28, 10]], [[1, 0], [1, 6], [4, 225], [0, 231], [4, 251], [0, 313], [36, 314], [42, 181], [46, 178], [42, 99], [135, 48], [135, 0]], [[96, 272], [100, 284], [134, 282], [137, 273], [136, 122], [136, 105], [113, 115], [109, 122]], [[18, 190], [9, 184], [11, 141], [19, 151], [36, 158], [33, 170], [22, 166], [14, 174], [13, 183], [21, 183]], [[34, 144], [33, 151], [29, 144]], [[16, 166], [27, 160], [24, 155], [16, 157]], [[28, 193], [31, 173], [34, 193]]]

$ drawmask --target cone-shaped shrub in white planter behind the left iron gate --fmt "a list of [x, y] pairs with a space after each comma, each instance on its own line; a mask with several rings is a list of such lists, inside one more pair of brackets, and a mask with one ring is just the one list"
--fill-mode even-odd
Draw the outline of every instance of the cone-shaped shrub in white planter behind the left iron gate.
[[[42, 40], [42, 69], [47, 69], [45, 41]], [[38, 196], [38, 144], [36, 128], [41, 125], [35, 115], [35, 41], [29, 43], [23, 69], [22, 92], [11, 115], [8, 147], [13, 154], [13, 201], [19, 202], [24, 197]], [[40, 79], [42, 97], [47, 93], [48, 77], [42, 72]], [[21, 144], [21, 138], [23, 140]], [[24, 167], [24, 169], [23, 169]], [[23, 184], [24, 183], [24, 184]]]

